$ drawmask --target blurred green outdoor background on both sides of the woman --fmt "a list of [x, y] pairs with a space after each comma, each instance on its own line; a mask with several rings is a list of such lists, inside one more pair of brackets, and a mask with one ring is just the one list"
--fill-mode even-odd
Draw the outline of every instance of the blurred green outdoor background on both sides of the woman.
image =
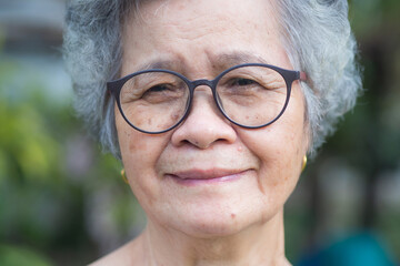
[[[350, 4], [364, 92], [287, 204], [287, 255], [299, 265], [358, 236], [400, 262], [400, 1]], [[63, 12], [63, 0], [0, 0], [2, 266], [84, 265], [146, 223], [120, 163], [74, 117]]]

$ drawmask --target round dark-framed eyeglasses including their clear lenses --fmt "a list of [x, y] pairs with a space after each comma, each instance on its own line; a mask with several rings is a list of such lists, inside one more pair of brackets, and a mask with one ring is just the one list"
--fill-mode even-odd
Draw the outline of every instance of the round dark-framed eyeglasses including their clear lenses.
[[200, 85], [211, 89], [218, 109], [233, 124], [246, 129], [267, 126], [283, 114], [296, 80], [306, 80], [306, 74], [247, 63], [227, 69], [214, 80], [190, 81], [170, 70], [143, 70], [108, 82], [107, 89], [128, 124], [158, 134], [174, 129], [188, 116]]

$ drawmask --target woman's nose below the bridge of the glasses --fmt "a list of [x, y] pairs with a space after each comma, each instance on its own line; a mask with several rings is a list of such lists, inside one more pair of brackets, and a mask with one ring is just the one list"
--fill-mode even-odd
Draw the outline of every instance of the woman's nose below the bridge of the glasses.
[[173, 131], [171, 142], [203, 150], [214, 143], [233, 143], [236, 139], [237, 133], [216, 105], [210, 88], [201, 85], [194, 90], [190, 113]]

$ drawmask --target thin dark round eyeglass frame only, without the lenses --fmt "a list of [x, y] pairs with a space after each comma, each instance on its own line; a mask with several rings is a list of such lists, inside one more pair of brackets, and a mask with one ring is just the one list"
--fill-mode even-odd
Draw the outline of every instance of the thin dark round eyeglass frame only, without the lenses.
[[[226, 112], [223, 111], [220, 101], [218, 100], [218, 95], [217, 95], [217, 84], [220, 81], [220, 79], [228, 72], [239, 69], [239, 68], [246, 68], [246, 66], [262, 66], [262, 68], [269, 68], [272, 69], [274, 71], [277, 71], [284, 80], [286, 84], [287, 84], [287, 99], [284, 101], [284, 105], [282, 108], [282, 110], [280, 111], [280, 113], [277, 115], [277, 117], [274, 117], [273, 120], [271, 120], [270, 122], [262, 124], [262, 125], [256, 125], [256, 126], [249, 126], [249, 125], [242, 125], [233, 120], [231, 120]], [[173, 74], [178, 78], [180, 78], [182, 81], [184, 81], [184, 83], [188, 85], [189, 89], [189, 101], [187, 103], [187, 108], [184, 110], [184, 114], [183, 116], [172, 126], [170, 126], [167, 130], [163, 131], [157, 131], [157, 132], [151, 132], [151, 131], [144, 131], [141, 130], [139, 127], [137, 127], [136, 125], [133, 125], [128, 117], [124, 115], [123, 111], [122, 111], [122, 106], [121, 106], [121, 102], [120, 102], [120, 92], [122, 90], [123, 84], [130, 80], [131, 78], [139, 75], [139, 74], [143, 74], [143, 73], [150, 73], [150, 72], [163, 72], [163, 73], [169, 73], [169, 74]], [[164, 132], [168, 132], [170, 130], [173, 130], [174, 127], [177, 127], [180, 123], [182, 123], [182, 121], [184, 121], [187, 119], [187, 116], [190, 113], [190, 109], [191, 109], [191, 104], [192, 104], [192, 100], [193, 100], [193, 94], [194, 94], [194, 90], [196, 88], [198, 88], [199, 85], [207, 85], [211, 89], [212, 91], [212, 96], [214, 99], [214, 102], [219, 109], [219, 111], [223, 114], [223, 116], [226, 119], [228, 119], [228, 121], [230, 121], [231, 123], [244, 127], [244, 129], [260, 129], [260, 127], [264, 127], [267, 125], [272, 124], [273, 122], [276, 122], [286, 111], [288, 103], [289, 103], [289, 99], [290, 99], [290, 93], [291, 93], [291, 85], [296, 80], [301, 80], [301, 81], [306, 81], [307, 80], [307, 75], [304, 72], [302, 71], [294, 71], [294, 70], [287, 70], [287, 69], [281, 69], [278, 68], [276, 65], [271, 65], [271, 64], [262, 64], [262, 63], [244, 63], [244, 64], [238, 64], [234, 66], [231, 66], [224, 71], [222, 71], [219, 75], [216, 76], [216, 79], [213, 80], [206, 80], [206, 79], [200, 79], [200, 80], [194, 80], [191, 81], [188, 78], [186, 78], [184, 75], [171, 71], [171, 70], [166, 70], [166, 69], [149, 69], [149, 70], [141, 70], [131, 74], [128, 74], [121, 79], [118, 80], [113, 80], [113, 81], [109, 81], [107, 82], [107, 90], [110, 92], [110, 94], [116, 99], [117, 101], [117, 105], [118, 109], [122, 115], [122, 117], [124, 119], [124, 121], [132, 126], [134, 130], [140, 131], [142, 133], [147, 133], [147, 134], [161, 134]]]

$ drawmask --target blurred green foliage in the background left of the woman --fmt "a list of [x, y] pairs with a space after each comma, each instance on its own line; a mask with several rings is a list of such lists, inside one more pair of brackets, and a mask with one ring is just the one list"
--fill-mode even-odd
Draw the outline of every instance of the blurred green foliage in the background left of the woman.
[[[100, 155], [82, 133], [70, 99], [53, 101], [48, 90], [34, 72], [27, 75], [14, 61], [0, 60], [0, 239], [79, 265], [98, 257], [90, 256], [98, 246], [88, 217], [94, 194], [116, 193], [108, 211], [123, 239], [136, 201], [120, 180], [120, 163]], [[23, 263], [30, 257], [32, 264]], [[3, 246], [0, 265], [49, 265], [33, 257], [33, 250]]]

